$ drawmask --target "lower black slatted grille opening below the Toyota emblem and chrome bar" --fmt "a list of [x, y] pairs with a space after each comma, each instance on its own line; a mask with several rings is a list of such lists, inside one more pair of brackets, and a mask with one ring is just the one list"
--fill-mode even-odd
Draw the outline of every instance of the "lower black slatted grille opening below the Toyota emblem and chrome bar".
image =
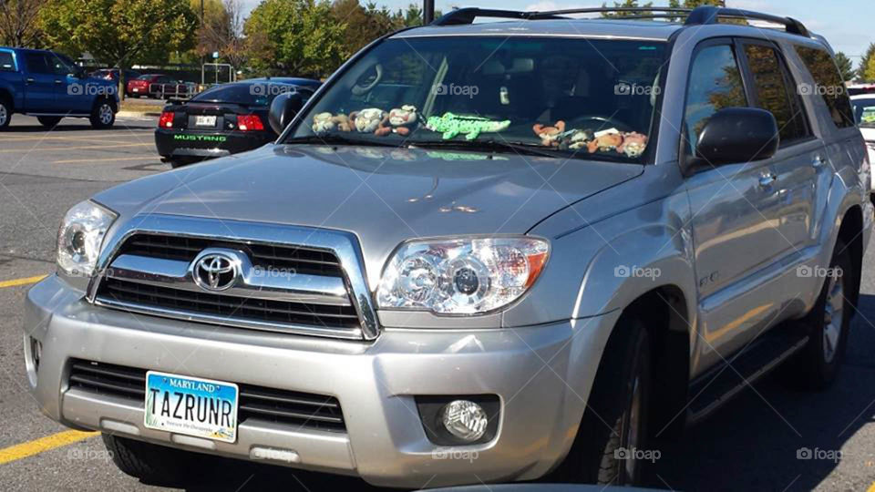
[[211, 314], [228, 319], [350, 330], [359, 326], [358, 314], [355, 313], [353, 306], [252, 299], [210, 292], [192, 292], [113, 278], [105, 279], [100, 284], [100, 293], [118, 302]]

